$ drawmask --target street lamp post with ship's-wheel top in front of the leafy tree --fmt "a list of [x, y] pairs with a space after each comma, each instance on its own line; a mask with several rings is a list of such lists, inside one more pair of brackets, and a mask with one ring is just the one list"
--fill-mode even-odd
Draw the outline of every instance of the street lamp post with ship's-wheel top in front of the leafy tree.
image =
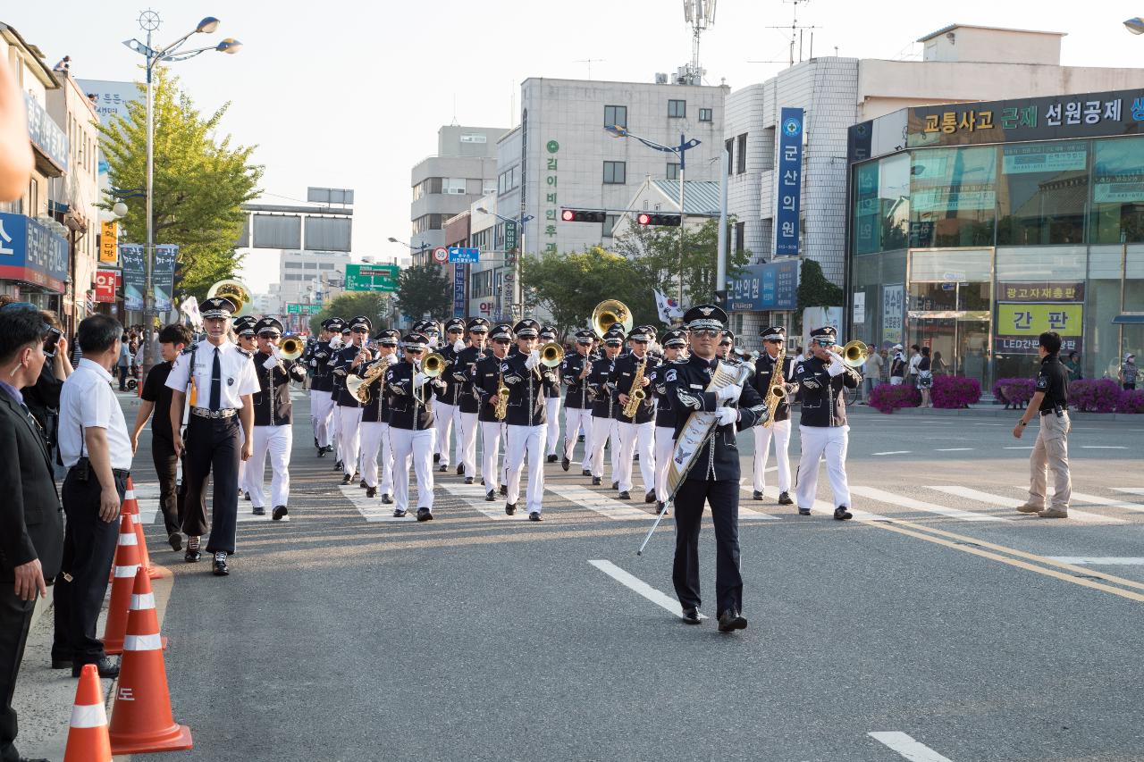
[[193, 58], [201, 53], [206, 53], [207, 50], [235, 54], [241, 49], [243, 43], [233, 38], [227, 38], [219, 45], [196, 48], [193, 50], [180, 50], [183, 42], [189, 40], [192, 34], [210, 34], [219, 29], [219, 19], [214, 16], [207, 16], [200, 21], [192, 31], [178, 38], [170, 45], [156, 49], [152, 47], [151, 35], [162, 23], [162, 19], [159, 18], [159, 14], [150, 9], [144, 10], [140, 14], [138, 23], [140, 29], [146, 32], [146, 42], [144, 43], [133, 39], [124, 40], [124, 45], [146, 59], [146, 65], [144, 68], [146, 72], [146, 184], [144, 185], [144, 193], [146, 196], [146, 247], [143, 256], [145, 280], [145, 293], [143, 296], [143, 327], [146, 332], [146, 340], [143, 343], [143, 373], [145, 374], [151, 366], [154, 365], [154, 347], [151, 341], [151, 333], [154, 328], [152, 325], [154, 319], [154, 96], [152, 93], [154, 68], [160, 63], [186, 61], [188, 58]]

